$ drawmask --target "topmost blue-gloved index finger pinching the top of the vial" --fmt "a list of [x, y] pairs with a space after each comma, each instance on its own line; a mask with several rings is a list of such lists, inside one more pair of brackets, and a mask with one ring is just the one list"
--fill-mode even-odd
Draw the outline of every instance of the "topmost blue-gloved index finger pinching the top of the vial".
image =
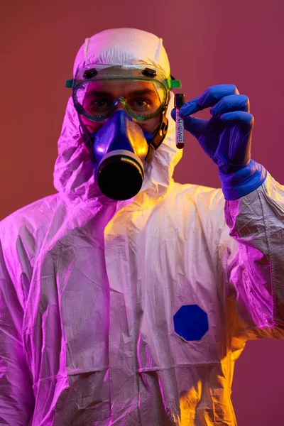
[[208, 107], [214, 107], [220, 99], [231, 94], [239, 94], [239, 90], [234, 84], [217, 84], [211, 86], [200, 97], [192, 99], [180, 108], [180, 113], [183, 116], [195, 114], [197, 111]]

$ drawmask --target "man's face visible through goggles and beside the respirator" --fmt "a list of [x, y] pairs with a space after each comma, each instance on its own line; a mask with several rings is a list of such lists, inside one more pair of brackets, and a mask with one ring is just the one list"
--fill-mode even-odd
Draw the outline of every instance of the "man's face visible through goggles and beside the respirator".
[[[117, 97], [124, 97], [124, 99], [129, 102], [130, 99], [132, 99], [131, 102], [135, 103], [137, 111], [139, 111], [139, 109], [145, 110], [149, 106], [153, 109], [158, 109], [160, 105], [158, 92], [155, 91], [151, 82], [116, 80], [90, 82], [84, 97], [83, 107], [88, 110], [92, 107], [94, 102], [96, 102], [96, 104], [100, 103], [103, 106], [106, 102], [113, 102]], [[119, 109], [125, 110], [124, 104], [119, 102], [116, 106], [116, 111]], [[87, 119], [85, 116], [81, 116], [81, 118], [83, 124], [91, 133], [98, 131], [109, 120], [108, 118], [98, 122]], [[133, 119], [133, 121], [144, 131], [153, 133], [158, 124], [160, 124], [160, 119], [161, 113], [146, 121], [138, 121], [137, 119]]]

